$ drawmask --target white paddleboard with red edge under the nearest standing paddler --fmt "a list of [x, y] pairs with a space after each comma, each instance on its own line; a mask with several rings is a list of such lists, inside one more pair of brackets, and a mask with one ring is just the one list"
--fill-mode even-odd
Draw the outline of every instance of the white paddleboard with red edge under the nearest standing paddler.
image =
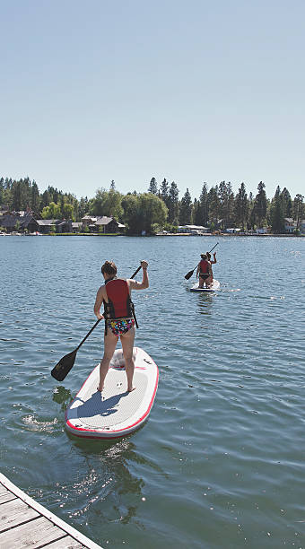
[[127, 392], [122, 349], [113, 354], [105, 387], [98, 364], [65, 412], [65, 427], [78, 437], [116, 439], [135, 431], [147, 420], [158, 388], [159, 370], [149, 354], [134, 347], [134, 391]]

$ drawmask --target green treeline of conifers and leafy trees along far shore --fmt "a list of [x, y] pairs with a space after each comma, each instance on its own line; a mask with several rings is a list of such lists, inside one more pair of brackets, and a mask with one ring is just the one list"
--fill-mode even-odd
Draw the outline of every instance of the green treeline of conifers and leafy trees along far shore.
[[146, 193], [136, 191], [122, 195], [111, 181], [109, 190], [99, 188], [93, 198], [82, 196], [80, 200], [71, 193], [64, 193], [49, 186], [39, 192], [36, 181], [25, 179], [0, 179], [0, 204], [11, 211], [30, 208], [45, 219], [72, 219], [81, 221], [86, 214], [113, 216], [124, 222], [127, 231], [138, 233], [166, 229], [177, 231], [179, 225], [194, 224], [214, 229], [238, 227], [243, 231], [270, 226], [274, 233], [284, 232], [284, 219], [297, 223], [305, 217], [304, 197], [292, 197], [286, 187], [276, 187], [274, 196], [266, 196], [265, 184], [260, 181], [257, 194], [246, 191], [240, 184], [236, 194], [231, 182], [221, 181], [208, 187], [203, 184], [201, 194], [194, 200], [187, 188], [179, 198], [179, 188], [174, 181], [163, 179], [158, 185], [152, 178]]

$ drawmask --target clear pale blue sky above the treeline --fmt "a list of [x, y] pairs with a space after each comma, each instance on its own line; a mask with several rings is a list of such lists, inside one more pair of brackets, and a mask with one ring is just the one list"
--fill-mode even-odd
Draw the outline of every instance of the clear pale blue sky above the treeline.
[[0, 0], [0, 175], [305, 194], [303, 0]]

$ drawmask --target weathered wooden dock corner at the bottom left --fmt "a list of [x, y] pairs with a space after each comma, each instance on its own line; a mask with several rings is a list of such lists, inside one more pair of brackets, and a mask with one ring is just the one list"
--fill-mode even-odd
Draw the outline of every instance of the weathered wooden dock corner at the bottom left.
[[0, 473], [0, 547], [4, 549], [101, 549], [32, 500]]

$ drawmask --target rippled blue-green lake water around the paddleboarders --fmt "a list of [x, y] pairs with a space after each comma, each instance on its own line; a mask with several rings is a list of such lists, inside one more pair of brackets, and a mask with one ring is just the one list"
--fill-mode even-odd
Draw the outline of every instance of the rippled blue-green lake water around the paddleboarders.
[[[104, 548], [305, 547], [305, 239], [218, 237], [221, 291], [189, 292], [216, 241], [0, 239], [1, 471]], [[148, 423], [111, 442], [64, 422], [102, 327], [50, 376], [95, 322], [105, 259], [149, 262], [135, 341], [160, 369]]]

